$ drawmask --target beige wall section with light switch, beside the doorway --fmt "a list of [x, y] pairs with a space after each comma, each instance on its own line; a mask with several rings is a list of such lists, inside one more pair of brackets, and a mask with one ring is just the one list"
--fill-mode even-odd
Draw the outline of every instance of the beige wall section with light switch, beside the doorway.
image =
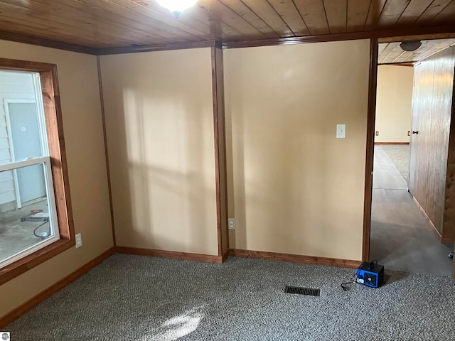
[[231, 247], [361, 259], [369, 48], [225, 50]]

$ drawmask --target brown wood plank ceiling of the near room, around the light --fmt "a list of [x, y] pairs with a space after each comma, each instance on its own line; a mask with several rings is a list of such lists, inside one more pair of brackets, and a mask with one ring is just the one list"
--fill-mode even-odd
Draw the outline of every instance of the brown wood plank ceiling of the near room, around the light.
[[455, 0], [0, 0], [0, 31], [90, 48], [453, 26]]

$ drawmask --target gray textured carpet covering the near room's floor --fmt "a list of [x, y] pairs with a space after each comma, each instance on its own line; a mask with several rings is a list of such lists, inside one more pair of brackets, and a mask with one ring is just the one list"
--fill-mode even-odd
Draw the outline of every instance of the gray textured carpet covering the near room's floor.
[[[230, 257], [225, 264], [114, 255], [11, 323], [11, 340], [455, 340], [455, 281]], [[284, 293], [286, 284], [321, 297]], [[32, 285], [32, 284], [31, 284]]]

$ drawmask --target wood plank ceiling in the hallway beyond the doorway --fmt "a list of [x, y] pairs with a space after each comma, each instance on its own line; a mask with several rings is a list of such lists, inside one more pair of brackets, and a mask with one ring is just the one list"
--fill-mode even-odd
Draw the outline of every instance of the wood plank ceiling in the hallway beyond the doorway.
[[400, 42], [378, 45], [378, 64], [416, 63], [455, 45], [455, 38], [422, 40], [422, 45], [412, 52], [402, 50]]

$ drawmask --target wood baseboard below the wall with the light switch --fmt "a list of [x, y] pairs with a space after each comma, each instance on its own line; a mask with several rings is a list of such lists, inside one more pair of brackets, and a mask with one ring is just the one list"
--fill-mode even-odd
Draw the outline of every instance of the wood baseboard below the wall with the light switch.
[[358, 268], [358, 266], [362, 263], [361, 261], [353, 261], [350, 259], [302, 256], [300, 254], [279, 254], [276, 252], [250, 251], [250, 250], [241, 250], [241, 249], [230, 249], [229, 255], [235, 256], [235, 257], [268, 259], [268, 260], [273, 260], [273, 261], [289, 261], [291, 263], [339, 266], [342, 268], [353, 268], [353, 269]]

